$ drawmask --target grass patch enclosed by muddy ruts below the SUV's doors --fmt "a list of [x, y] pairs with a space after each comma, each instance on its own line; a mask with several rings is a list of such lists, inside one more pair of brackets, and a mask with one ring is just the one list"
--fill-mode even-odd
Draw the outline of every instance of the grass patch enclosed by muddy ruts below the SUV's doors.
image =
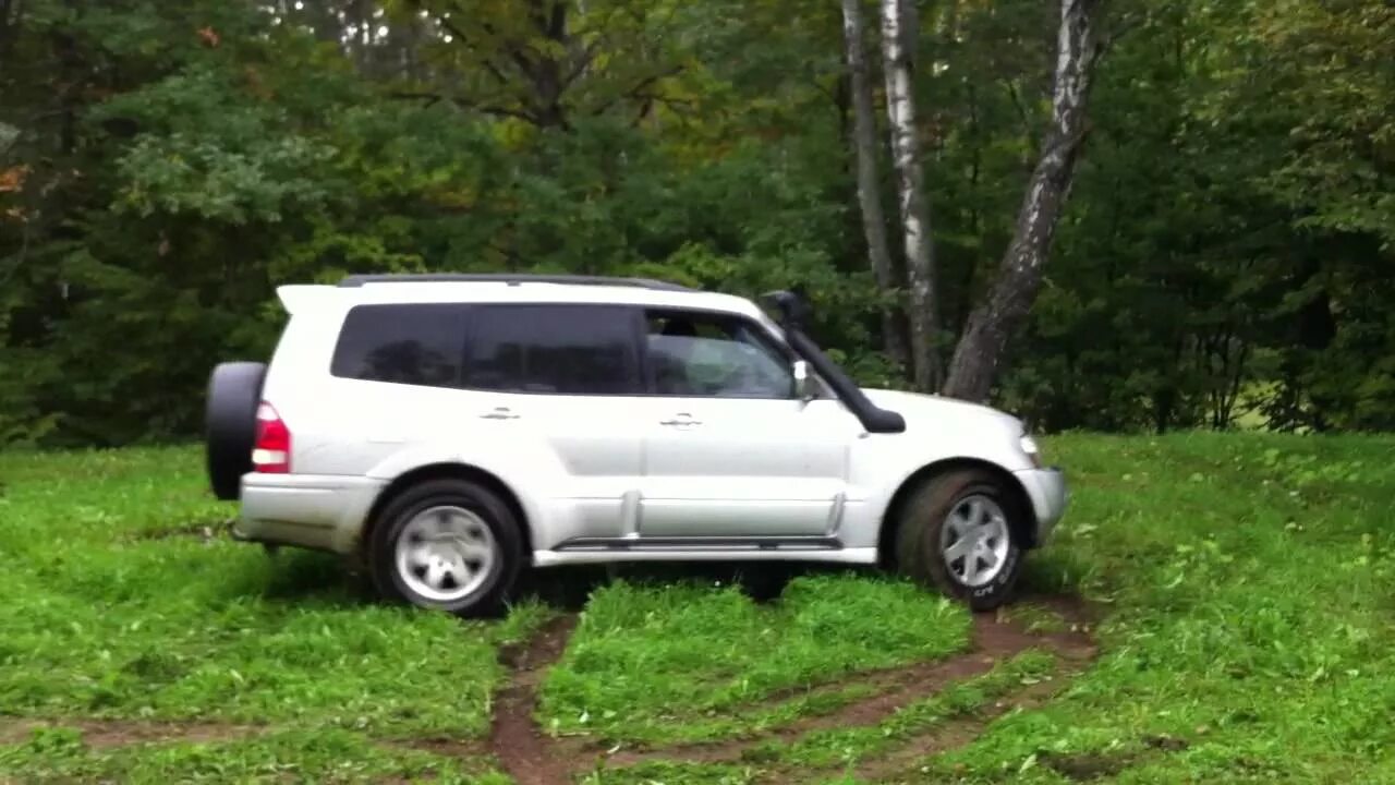
[[968, 631], [963, 606], [898, 580], [805, 575], [764, 606], [730, 585], [617, 582], [591, 595], [548, 675], [544, 726], [643, 743], [741, 735], [855, 694], [795, 711], [742, 705], [854, 670], [939, 659], [967, 648]]

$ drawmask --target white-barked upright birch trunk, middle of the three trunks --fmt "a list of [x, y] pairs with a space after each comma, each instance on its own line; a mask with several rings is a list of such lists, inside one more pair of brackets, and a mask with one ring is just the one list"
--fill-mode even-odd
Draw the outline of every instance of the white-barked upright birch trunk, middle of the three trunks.
[[917, 35], [911, 24], [912, 3], [914, 0], [882, 0], [882, 60], [886, 70], [886, 112], [897, 177], [897, 204], [905, 237], [905, 274], [911, 291], [911, 367], [915, 387], [930, 391], [940, 380], [935, 339], [939, 328], [939, 291], [935, 284], [930, 214], [921, 176], [921, 144], [915, 134], [912, 47], [907, 45]]

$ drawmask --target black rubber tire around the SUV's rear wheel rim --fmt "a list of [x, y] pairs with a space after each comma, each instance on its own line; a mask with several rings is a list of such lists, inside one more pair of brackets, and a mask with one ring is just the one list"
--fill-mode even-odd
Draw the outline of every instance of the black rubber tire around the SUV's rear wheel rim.
[[[495, 562], [480, 587], [442, 601], [414, 589], [398, 568], [398, 542], [407, 525], [432, 507], [458, 507], [483, 522], [494, 538]], [[425, 480], [407, 487], [384, 506], [368, 543], [368, 571], [378, 594], [392, 602], [445, 610], [465, 617], [497, 613], [511, 595], [523, 567], [523, 534], [513, 511], [490, 489], [458, 479]]]

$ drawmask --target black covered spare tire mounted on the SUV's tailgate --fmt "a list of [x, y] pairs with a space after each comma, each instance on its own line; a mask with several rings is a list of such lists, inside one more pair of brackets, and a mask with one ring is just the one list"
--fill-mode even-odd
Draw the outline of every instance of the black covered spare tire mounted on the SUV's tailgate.
[[208, 379], [204, 413], [208, 480], [223, 501], [241, 496], [243, 475], [252, 471], [257, 408], [266, 363], [219, 363]]

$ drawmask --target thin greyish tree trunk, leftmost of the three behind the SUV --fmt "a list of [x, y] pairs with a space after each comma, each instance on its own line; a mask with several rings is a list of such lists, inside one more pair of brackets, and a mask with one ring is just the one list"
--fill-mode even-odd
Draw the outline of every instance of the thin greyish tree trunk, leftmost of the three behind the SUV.
[[[876, 165], [876, 115], [872, 108], [872, 82], [862, 50], [862, 10], [858, 0], [843, 0], [843, 38], [847, 49], [850, 92], [852, 102], [852, 154], [858, 170], [858, 208], [862, 214], [862, 233], [868, 243], [868, 258], [882, 295], [898, 288], [891, 250], [886, 240], [886, 214], [882, 211], [882, 189]], [[882, 346], [891, 362], [907, 367], [910, 358], [905, 335], [901, 334], [896, 307], [882, 309]]]

